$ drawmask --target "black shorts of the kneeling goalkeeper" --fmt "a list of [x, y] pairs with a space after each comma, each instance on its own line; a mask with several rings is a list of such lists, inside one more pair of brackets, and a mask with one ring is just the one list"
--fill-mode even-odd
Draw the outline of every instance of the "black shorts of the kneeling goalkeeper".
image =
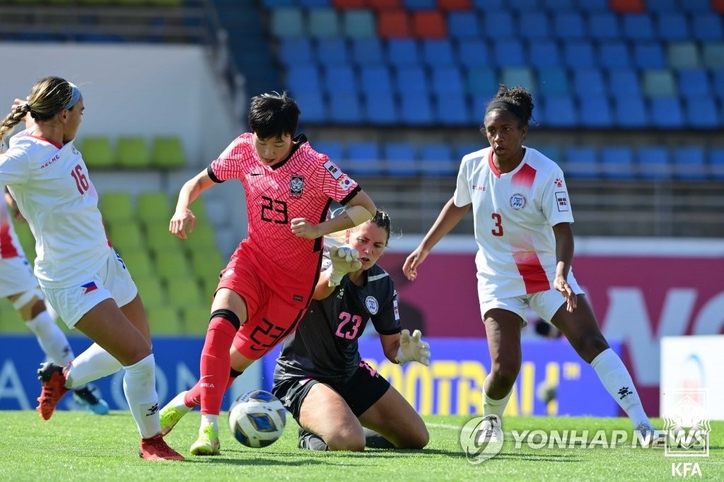
[[287, 407], [287, 410], [290, 411], [294, 420], [297, 420], [297, 423], [299, 423], [299, 412], [302, 408], [302, 403], [312, 386], [319, 383], [324, 383], [331, 387], [334, 392], [340, 394], [340, 396], [345, 399], [345, 402], [347, 402], [347, 405], [349, 405], [352, 413], [355, 414], [355, 417], [359, 417], [365, 413], [367, 409], [382, 398], [382, 395], [390, 388], [390, 382], [367, 365], [366, 361], [362, 360], [353, 376], [343, 383], [329, 383], [306, 378], [285, 379], [274, 383], [274, 388], [271, 389], [271, 393], [282, 400], [282, 403]]

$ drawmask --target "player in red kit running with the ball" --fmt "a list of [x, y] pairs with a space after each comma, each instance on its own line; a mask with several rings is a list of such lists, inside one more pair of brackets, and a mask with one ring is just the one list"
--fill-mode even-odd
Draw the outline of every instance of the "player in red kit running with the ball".
[[[190, 448], [195, 455], [219, 453], [218, 418], [227, 387], [292, 333], [306, 312], [319, 278], [324, 235], [362, 224], [376, 212], [357, 182], [314, 151], [304, 135], [294, 137], [299, 114], [286, 93], [252, 98], [251, 132], [183, 185], [169, 224], [172, 234], [185, 239], [186, 228], [191, 233], [195, 224], [193, 200], [216, 183], [242, 182], [249, 234], [220, 274], [201, 352], [201, 379], [161, 410], [166, 434], [201, 402], [201, 428]], [[332, 201], [348, 208], [327, 220]]]

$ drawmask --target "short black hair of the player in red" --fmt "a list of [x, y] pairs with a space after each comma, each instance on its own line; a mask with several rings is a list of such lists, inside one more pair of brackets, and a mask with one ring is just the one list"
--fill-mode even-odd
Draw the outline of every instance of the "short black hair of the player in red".
[[299, 126], [299, 106], [282, 93], [268, 92], [251, 98], [249, 127], [261, 139], [294, 137]]

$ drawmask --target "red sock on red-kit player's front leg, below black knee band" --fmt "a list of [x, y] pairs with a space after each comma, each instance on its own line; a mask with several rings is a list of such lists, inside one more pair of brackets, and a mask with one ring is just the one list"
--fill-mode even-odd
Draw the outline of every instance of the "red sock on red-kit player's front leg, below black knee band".
[[[226, 391], [231, 356], [229, 349], [236, 335], [235, 327], [225, 318], [212, 318], [201, 351], [201, 413], [219, 415]], [[195, 387], [194, 387], [195, 388]]]

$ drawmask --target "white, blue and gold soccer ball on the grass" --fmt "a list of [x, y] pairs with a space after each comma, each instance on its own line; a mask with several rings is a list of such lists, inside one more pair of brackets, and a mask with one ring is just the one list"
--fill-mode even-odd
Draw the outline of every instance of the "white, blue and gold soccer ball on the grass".
[[229, 411], [229, 428], [246, 447], [273, 444], [284, 431], [287, 410], [277, 397], [264, 390], [252, 390], [234, 400]]

